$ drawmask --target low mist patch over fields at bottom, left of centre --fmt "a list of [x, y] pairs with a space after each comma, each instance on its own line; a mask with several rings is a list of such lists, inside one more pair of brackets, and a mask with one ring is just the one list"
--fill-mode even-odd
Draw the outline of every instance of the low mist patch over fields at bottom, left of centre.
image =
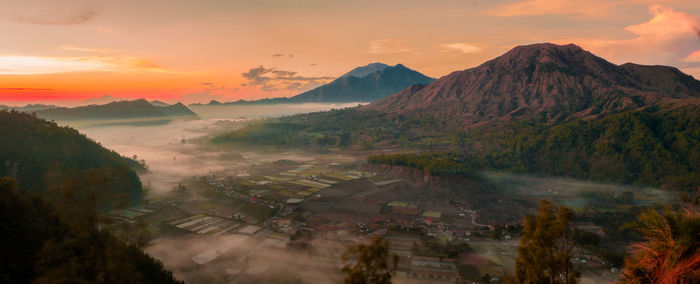
[[346, 243], [316, 239], [303, 250], [286, 249], [286, 243], [246, 235], [182, 236], [159, 241], [146, 252], [187, 283], [250, 281], [241, 274], [235, 276], [241, 272], [259, 281], [255, 283], [342, 282], [335, 268], [342, 265]]

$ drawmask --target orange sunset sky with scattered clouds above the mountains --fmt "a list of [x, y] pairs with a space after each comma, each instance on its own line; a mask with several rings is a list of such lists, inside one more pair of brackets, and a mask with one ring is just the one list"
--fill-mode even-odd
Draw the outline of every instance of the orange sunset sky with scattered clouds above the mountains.
[[372, 62], [439, 78], [574, 43], [700, 78], [700, 2], [3, 0], [0, 104], [288, 97]]

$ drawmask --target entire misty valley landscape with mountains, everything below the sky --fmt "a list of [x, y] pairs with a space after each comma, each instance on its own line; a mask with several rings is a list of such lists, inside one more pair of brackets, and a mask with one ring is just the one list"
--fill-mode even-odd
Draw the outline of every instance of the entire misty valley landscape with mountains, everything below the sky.
[[545, 43], [290, 98], [3, 107], [0, 282], [697, 283], [699, 98]]

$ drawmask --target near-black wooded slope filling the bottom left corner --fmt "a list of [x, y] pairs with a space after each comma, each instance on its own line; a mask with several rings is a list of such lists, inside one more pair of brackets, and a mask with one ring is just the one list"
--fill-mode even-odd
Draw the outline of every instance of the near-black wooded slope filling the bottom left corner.
[[89, 202], [48, 202], [0, 175], [0, 283], [182, 283], [97, 219]]

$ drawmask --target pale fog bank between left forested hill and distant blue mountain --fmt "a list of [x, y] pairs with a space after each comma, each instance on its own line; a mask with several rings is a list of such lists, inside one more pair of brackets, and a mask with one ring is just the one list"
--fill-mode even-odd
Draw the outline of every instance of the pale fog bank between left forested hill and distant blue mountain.
[[[356, 104], [353, 104], [356, 105]], [[207, 174], [238, 175], [246, 168], [278, 159], [308, 160], [287, 153], [241, 152], [208, 145], [207, 138], [245, 125], [250, 118], [342, 108], [338, 104], [286, 104], [264, 106], [199, 106], [193, 111], [202, 119], [176, 120], [164, 125], [77, 127], [80, 132], [117, 153], [144, 160], [148, 172], [141, 181], [151, 195], [170, 191], [183, 178]], [[241, 118], [246, 117], [246, 118]], [[84, 125], [84, 124], [83, 124]], [[82, 126], [82, 127], [81, 127]]]

